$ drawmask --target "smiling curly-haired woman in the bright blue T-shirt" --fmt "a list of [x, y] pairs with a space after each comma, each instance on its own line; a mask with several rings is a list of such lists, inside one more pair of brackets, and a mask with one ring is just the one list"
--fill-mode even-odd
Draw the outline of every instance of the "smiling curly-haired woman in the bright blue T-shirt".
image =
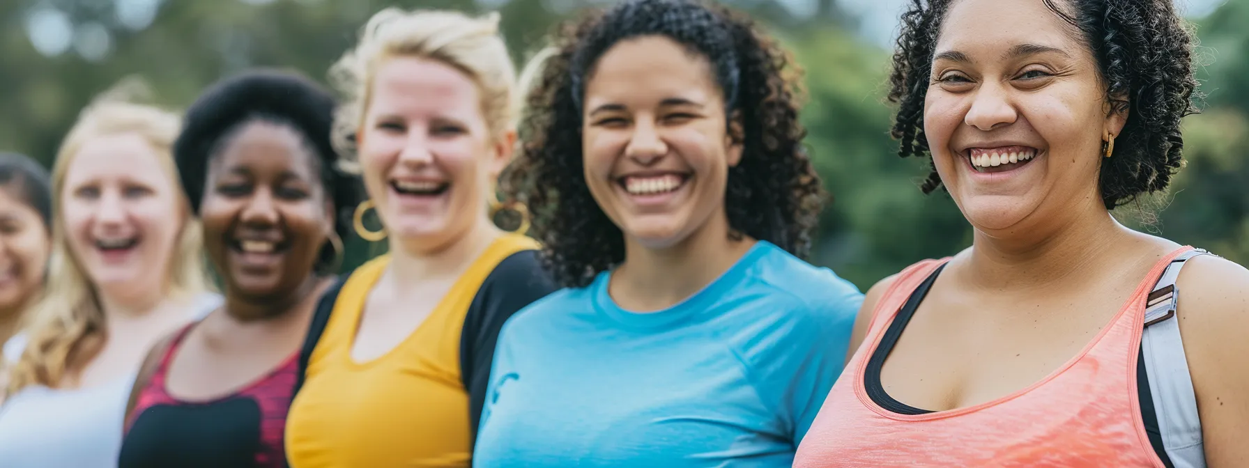
[[501, 332], [475, 462], [789, 467], [862, 295], [796, 256], [822, 193], [788, 55], [683, 0], [557, 49], [505, 182], [567, 288]]

